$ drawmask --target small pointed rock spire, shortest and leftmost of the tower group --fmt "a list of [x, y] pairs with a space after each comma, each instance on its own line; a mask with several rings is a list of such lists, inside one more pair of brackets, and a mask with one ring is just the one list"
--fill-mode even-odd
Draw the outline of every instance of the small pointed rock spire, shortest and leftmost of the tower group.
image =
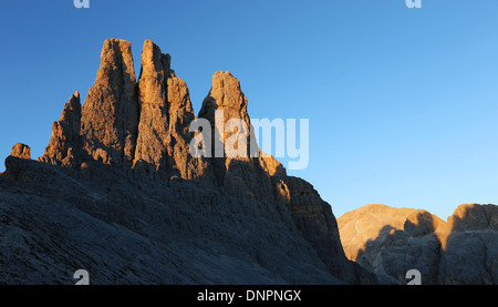
[[53, 123], [52, 136], [40, 162], [52, 165], [75, 167], [81, 149], [81, 103], [80, 93], [74, 93], [64, 105], [61, 117]]

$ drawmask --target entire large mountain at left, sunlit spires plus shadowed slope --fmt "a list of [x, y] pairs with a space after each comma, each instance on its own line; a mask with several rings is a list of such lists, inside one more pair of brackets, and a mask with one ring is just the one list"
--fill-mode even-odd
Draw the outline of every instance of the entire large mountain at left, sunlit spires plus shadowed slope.
[[[0, 284], [372, 284], [345, 257], [329, 204], [273, 157], [194, 157], [196, 119], [172, 58], [106, 40], [38, 161], [17, 144], [0, 175]], [[250, 126], [248, 100], [216, 72], [199, 117]], [[238, 146], [255, 142], [241, 134]], [[257, 150], [259, 152], [259, 150]]]

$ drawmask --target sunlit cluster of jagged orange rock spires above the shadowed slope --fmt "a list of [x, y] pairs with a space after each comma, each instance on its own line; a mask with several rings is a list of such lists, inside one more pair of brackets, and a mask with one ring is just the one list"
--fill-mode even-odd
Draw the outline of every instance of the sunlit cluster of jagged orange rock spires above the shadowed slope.
[[[199, 117], [211, 122], [215, 134], [220, 131], [215, 129], [216, 111], [224, 111], [224, 126], [230, 119], [241, 119], [248, 129], [241, 140], [243, 142], [237, 146], [247, 146], [248, 156], [221, 160], [193, 157], [190, 141], [194, 133], [189, 131], [189, 125], [196, 117], [187, 84], [175, 75], [170, 61], [169, 54], [164, 54], [152, 41], [145, 41], [141, 74], [136, 82], [131, 43], [106, 40], [95, 83], [89, 90], [83, 108], [76, 92], [65, 105], [60, 121], [54, 123], [52, 140], [39, 160], [71, 167], [100, 161], [134, 168], [136, 174], [185, 180], [201, 177], [211, 184], [216, 184], [217, 172], [218, 185], [225, 185], [224, 177], [229, 173], [238, 174], [242, 176], [239, 180], [245, 181], [243, 173], [249, 170], [230, 168], [229, 165], [237, 164], [235, 161], [248, 162], [249, 166], [243, 167], [256, 167], [257, 173], [262, 170], [267, 182], [268, 176], [284, 174], [283, 166], [273, 157], [263, 158], [258, 154], [253, 158], [255, 151], [260, 152], [253, 135], [250, 135], [247, 98], [240, 82], [229, 72], [214, 74], [212, 86]], [[218, 133], [214, 141], [224, 146], [232, 134], [232, 131], [225, 131], [222, 135]], [[236, 187], [237, 181], [229, 181], [229, 184], [231, 182]], [[256, 184], [259, 180], [253, 182]]]

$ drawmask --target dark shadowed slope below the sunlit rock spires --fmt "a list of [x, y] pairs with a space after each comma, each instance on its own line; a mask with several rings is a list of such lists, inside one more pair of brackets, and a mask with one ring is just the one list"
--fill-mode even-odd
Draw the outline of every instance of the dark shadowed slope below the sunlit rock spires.
[[74, 285], [80, 268], [92, 285], [344, 283], [270, 204], [189, 181], [139, 187], [107, 166], [91, 178], [12, 156], [7, 166], [20, 176], [0, 176], [1, 284]]

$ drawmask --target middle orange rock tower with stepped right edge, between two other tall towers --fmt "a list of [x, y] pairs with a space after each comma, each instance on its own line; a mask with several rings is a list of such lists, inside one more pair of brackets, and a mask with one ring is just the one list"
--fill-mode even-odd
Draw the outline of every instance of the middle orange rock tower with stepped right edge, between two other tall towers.
[[141, 117], [134, 167], [164, 177], [207, 177], [206, 162], [190, 155], [189, 125], [195, 119], [189, 91], [170, 69], [170, 55], [145, 41], [138, 80]]

